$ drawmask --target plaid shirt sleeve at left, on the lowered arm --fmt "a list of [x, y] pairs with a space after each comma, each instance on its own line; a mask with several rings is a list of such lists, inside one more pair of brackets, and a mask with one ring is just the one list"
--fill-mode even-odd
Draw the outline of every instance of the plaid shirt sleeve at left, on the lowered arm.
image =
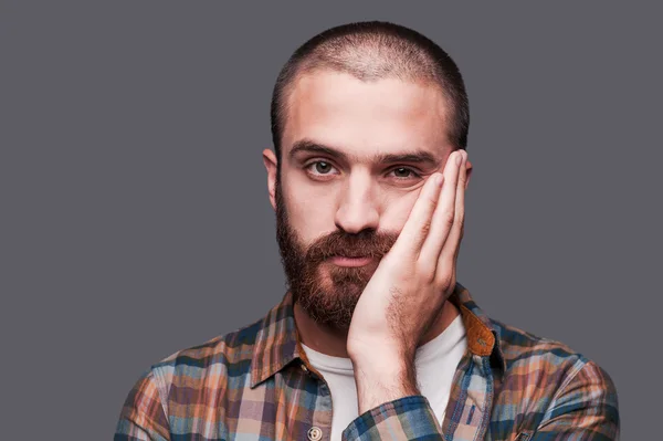
[[144, 372], [129, 391], [115, 429], [115, 441], [168, 441], [168, 418], [154, 374]]

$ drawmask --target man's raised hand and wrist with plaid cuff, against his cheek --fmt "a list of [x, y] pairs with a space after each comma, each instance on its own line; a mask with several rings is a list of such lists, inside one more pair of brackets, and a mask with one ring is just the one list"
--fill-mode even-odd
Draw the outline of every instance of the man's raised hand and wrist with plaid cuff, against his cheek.
[[442, 440], [417, 388], [414, 355], [455, 286], [463, 235], [466, 154], [424, 183], [398, 240], [365, 287], [348, 332], [359, 418], [344, 440]]

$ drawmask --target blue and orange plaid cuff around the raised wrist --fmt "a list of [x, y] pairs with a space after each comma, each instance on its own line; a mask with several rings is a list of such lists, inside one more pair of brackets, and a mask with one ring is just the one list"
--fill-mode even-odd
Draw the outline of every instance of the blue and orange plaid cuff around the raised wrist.
[[442, 430], [424, 396], [388, 401], [357, 417], [343, 432], [344, 441], [442, 440]]

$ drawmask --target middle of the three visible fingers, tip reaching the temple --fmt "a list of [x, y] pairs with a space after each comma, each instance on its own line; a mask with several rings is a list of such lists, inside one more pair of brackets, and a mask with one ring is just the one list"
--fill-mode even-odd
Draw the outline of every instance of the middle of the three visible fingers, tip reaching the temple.
[[419, 260], [423, 263], [438, 266], [438, 260], [442, 252], [446, 238], [453, 225], [455, 217], [456, 188], [459, 186], [460, 167], [456, 159], [462, 160], [461, 151], [453, 151], [444, 166], [444, 187], [440, 195], [440, 201], [433, 213], [431, 231], [421, 248]]

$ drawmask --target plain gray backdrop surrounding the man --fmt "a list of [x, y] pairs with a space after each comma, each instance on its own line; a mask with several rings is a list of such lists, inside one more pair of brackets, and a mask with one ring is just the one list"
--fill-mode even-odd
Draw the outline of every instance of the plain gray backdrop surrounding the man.
[[109, 439], [140, 372], [284, 293], [274, 80], [348, 21], [412, 27], [470, 95], [459, 281], [660, 422], [660, 8], [0, 2], [2, 439]]

